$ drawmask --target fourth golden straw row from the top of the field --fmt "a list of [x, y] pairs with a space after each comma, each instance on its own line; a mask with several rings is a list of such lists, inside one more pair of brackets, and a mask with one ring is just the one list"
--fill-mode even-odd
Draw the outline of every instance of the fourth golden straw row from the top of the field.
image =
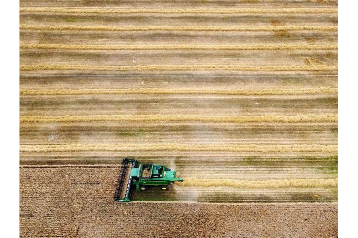
[[241, 65], [22, 65], [20, 70], [116, 70], [116, 71], [337, 71], [337, 65], [241, 66]]

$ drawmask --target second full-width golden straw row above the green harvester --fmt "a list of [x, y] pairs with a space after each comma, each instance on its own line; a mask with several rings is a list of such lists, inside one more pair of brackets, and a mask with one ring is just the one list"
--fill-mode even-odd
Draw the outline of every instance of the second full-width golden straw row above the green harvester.
[[337, 122], [338, 115], [263, 115], [263, 116], [195, 116], [195, 115], [97, 115], [97, 116], [20, 116], [21, 122]]

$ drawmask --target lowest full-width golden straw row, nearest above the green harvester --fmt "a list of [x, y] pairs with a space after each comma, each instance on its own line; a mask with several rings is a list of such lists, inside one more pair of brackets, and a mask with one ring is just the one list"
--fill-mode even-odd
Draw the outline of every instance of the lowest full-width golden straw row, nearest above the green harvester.
[[20, 145], [20, 152], [78, 152], [78, 151], [223, 151], [223, 152], [326, 152], [337, 153], [337, 145], [231, 145], [181, 143], [123, 143]]

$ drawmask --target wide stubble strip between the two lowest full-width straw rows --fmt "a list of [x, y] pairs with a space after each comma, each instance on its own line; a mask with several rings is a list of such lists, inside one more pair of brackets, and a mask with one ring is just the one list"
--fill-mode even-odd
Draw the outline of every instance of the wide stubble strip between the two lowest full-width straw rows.
[[336, 145], [336, 122], [22, 122], [20, 143], [235, 143]]

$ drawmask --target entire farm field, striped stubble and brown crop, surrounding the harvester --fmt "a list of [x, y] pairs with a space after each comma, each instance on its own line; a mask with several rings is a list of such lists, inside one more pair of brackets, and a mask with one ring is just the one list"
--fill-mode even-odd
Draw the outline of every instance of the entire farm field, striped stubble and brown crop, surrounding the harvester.
[[338, 236], [337, 4], [21, 0], [20, 236]]

